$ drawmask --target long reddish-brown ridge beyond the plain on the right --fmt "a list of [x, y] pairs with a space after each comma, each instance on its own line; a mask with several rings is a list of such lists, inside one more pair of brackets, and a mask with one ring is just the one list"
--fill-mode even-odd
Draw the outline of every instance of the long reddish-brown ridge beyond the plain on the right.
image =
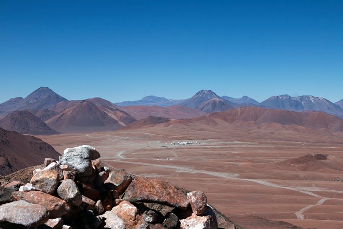
[[[222, 112], [215, 112], [188, 120], [170, 120], [166, 127], [181, 123], [195, 128], [288, 128], [293, 131], [324, 131], [325, 133], [343, 132], [343, 119], [324, 112], [295, 112], [273, 110], [259, 107], [241, 107]], [[132, 126], [135, 123], [132, 124]], [[150, 124], [149, 124], [150, 125]], [[131, 125], [130, 127], [133, 128]], [[138, 127], [138, 126], [137, 126]]]

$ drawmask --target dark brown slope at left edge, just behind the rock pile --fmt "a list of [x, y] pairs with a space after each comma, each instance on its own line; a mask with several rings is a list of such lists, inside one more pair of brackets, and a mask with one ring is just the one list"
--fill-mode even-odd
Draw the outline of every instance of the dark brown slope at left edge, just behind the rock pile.
[[42, 164], [60, 154], [41, 139], [0, 128], [0, 175]]

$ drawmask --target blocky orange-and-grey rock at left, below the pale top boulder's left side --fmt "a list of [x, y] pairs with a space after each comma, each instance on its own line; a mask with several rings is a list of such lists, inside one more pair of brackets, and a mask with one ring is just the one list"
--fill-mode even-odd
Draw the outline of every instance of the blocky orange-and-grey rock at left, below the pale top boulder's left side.
[[59, 174], [56, 170], [36, 171], [30, 180], [35, 189], [48, 194], [54, 193], [59, 182]]

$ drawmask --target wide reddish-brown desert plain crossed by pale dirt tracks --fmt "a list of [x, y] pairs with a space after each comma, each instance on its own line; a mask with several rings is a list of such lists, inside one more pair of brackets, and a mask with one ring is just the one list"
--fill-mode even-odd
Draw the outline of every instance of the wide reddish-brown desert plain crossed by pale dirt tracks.
[[[203, 190], [210, 204], [244, 228], [285, 228], [280, 220], [343, 228], [342, 135], [273, 129], [160, 124], [39, 137], [59, 153], [92, 145], [110, 167]], [[328, 155], [325, 161], [305, 156], [319, 153]]]

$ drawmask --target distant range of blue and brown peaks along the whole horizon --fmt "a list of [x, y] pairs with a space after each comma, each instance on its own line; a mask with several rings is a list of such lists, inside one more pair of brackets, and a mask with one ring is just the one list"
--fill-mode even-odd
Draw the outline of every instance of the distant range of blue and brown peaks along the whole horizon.
[[[234, 99], [228, 96], [220, 97], [211, 90], [201, 90], [186, 100], [147, 96], [140, 101], [114, 104], [101, 98], [68, 101], [48, 87], [40, 87], [25, 99], [18, 97], [1, 103], [0, 115], [7, 116], [0, 119], [0, 127], [37, 135], [54, 134], [57, 131], [61, 133], [112, 131], [149, 116], [193, 119], [214, 112], [233, 115], [234, 113], [226, 111], [236, 112], [240, 107], [262, 107], [303, 113], [324, 111], [342, 118], [343, 108], [340, 107], [342, 103], [343, 100], [335, 104], [321, 97], [289, 95], [273, 96], [258, 103], [247, 96]], [[136, 105], [126, 106], [127, 104]], [[257, 111], [261, 112], [258, 109], [251, 109], [250, 112]], [[274, 118], [264, 117], [271, 120]]]

